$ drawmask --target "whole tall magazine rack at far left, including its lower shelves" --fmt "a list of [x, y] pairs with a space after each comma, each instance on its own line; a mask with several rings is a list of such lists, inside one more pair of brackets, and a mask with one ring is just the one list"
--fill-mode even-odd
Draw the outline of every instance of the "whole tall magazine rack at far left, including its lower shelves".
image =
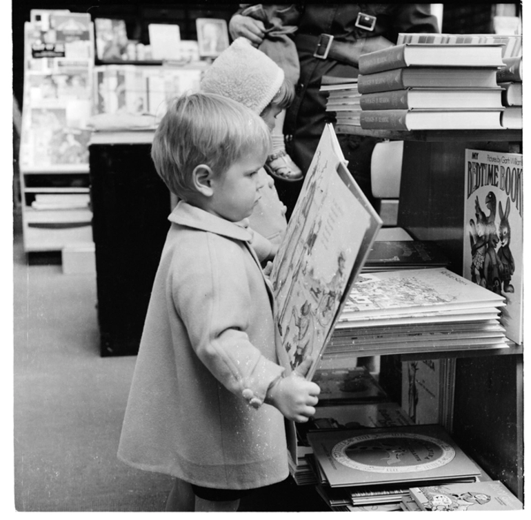
[[92, 246], [88, 179], [94, 30], [90, 15], [57, 11], [26, 22], [20, 148], [23, 245]]

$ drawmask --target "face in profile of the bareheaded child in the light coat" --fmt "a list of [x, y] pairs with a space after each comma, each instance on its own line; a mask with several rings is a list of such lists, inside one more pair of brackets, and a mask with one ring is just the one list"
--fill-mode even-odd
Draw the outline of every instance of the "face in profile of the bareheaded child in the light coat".
[[261, 155], [244, 154], [224, 174], [212, 178], [213, 194], [208, 211], [231, 222], [250, 216], [263, 187], [258, 171], [264, 162], [265, 157]]

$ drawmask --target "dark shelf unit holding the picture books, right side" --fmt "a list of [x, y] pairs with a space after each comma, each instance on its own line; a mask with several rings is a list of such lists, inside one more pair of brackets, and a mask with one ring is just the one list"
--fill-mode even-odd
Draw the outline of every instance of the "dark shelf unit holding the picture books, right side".
[[[462, 275], [465, 149], [522, 153], [521, 131], [355, 132], [405, 141], [397, 223], [417, 240], [436, 241], [450, 258], [449, 269]], [[382, 386], [399, 396], [401, 361], [429, 357], [383, 356]], [[452, 437], [522, 499], [523, 345], [432, 357], [457, 357]]]

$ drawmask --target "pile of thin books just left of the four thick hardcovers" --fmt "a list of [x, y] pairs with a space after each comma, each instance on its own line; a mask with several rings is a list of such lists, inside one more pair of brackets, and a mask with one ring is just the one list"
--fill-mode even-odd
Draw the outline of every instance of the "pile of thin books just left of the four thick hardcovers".
[[361, 94], [357, 80], [323, 76], [319, 92], [326, 96], [325, 110], [335, 113], [337, 125], [359, 127]]

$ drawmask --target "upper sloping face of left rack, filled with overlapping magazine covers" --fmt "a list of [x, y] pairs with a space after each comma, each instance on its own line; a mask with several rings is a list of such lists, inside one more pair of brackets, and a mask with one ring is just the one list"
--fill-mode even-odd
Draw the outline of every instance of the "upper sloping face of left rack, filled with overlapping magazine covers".
[[21, 171], [87, 171], [94, 30], [90, 14], [32, 10], [24, 25]]

